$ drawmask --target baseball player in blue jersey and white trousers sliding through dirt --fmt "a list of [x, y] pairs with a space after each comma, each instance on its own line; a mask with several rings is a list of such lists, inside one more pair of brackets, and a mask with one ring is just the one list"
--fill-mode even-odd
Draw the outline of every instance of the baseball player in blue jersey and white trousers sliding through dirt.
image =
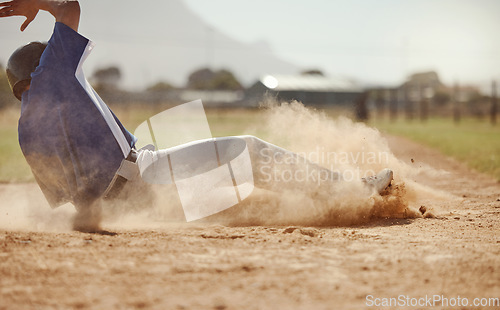
[[[170, 176], [172, 182], [174, 178], [182, 178], [182, 173], [172, 168], [176, 154], [181, 154], [177, 157], [182, 159], [194, 159], [184, 162], [192, 166], [188, 168], [194, 176], [211, 170], [212, 160], [203, 160], [207, 147], [214, 149], [217, 155], [212, 163], [214, 167], [220, 166], [221, 161], [224, 163], [225, 158], [227, 162], [233, 160], [237, 156], [233, 154], [235, 149], [240, 150], [238, 154], [241, 150], [247, 151], [252, 168], [248, 179], [253, 182], [252, 186], [267, 190], [301, 190], [304, 187], [300, 181], [270, 182], [262, 173], [269, 169], [296, 171], [307, 168], [325, 176], [326, 181], [318, 186], [335, 186], [345, 181], [333, 171], [299, 160], [298, 155], [253, 136], [194, 141], [171, 150], [136, 150], [137, 138], [124, 128], [83, 74], [83, 62], [94, 45], [78, 33], [78, 1], [0, 3], [0, 17], [26, 17], [21, 31], [34, 20], [39, 10], [55, 17], [52, 36], [47, 43], [32, 42], [18, 48], [8, 61], [7, 76], [14, 95], [21, 101], [18, 131], [22, 152], [50, 206], [55, 208], [68, 202], [75, 206], [75, 230], [99, 230], [103, 204], [130, 197], [124, 196], [124, 192], [134, 195], [147, 192], [138, 190], [138, 187], [147, 187], [144, 180], [162, 183], [159, 178], [165, 176]], [[277, 157], [290, 160], [281, 160], [279, 165], [267, 160]], [[265, 165], [269, 169], [263, 169]], [[152, 174], [163, 168], [170, 174], [166, 172], [158, 177]], [[238, 171], [229, 166], [229, 172], [234, 182]], [[392, 177], [392, 171], [384, 169], [364, 182], [380, 193], [390, 186]], [[239, 193], [237, 202], [249, 194], [250, 191], [245, 195]], [[230, 205], [226, 203], [225, 207]], [[215, 211], [206, 214], [211, 213]], [[196, 216], [200, 217], [195, 215], [193, 218]]]

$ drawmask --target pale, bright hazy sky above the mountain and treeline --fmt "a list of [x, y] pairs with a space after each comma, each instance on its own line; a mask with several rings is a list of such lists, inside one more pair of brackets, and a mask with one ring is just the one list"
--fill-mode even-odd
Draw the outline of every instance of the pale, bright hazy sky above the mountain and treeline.
[[[92, 39], [96, 36], [111, 39], [111, 34], [106, 36], [109, 29], [114, 29], [110, 33], [115, 38], [122, 29], [121, 37], [131, 38], [117, 42], [125, 47], [134, 44], [134, 38], [147, 37], [151, 25], [162, 23], [161, 19], [151, 17], [158, 14], [155, 9], [161, 1], [80, 2], [80, 30], [86, 30]], [[491, 79], [500, 80], [500, 1], [497, 0], [184, 0], [184, 3], [213, 28], [242, 42], [266, 42], [275, 55], [301, 68], [318, 68], [331, 75], [388, 85], [398, 84], [408, 74], [422, 70], [436, 70], [449, 84], [458, 81], [486, 87]], [[127, 18], [120, 18], [123, 16]], [[53, 27], [50, 16], [40, 14], [36, 26], [30, 26], [21, 36], [18, 31], [21, 23], [22, 18], [0, 20], [2, 64], [19, 42], [40, 36], [48, 39]], [[121, 55], [112, 57], [119, 59]], [[127, 61], [139, 62], [140, 57]], [[153, 72], [155, 68], [148, 70], [153, 76], [161, 74]], [[128, 79], [140, 83], [144, 76], [138, 74], [138, 81], [133, 76]]]

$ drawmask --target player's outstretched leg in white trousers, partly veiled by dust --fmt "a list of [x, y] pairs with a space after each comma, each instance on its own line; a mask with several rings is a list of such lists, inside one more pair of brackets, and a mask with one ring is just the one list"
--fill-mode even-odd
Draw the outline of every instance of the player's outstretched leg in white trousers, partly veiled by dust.
[[[312, 183], [317, 186], [335, 186], [341, 176], [323, 168], [303, 156], [288, 151], [254, 136], [220, 137], [193, 141], [158, 151], [143, 151], [137, 163], [141, 176], [153, 184], [169, 184], [203, 174], [226, 164], [248, 150], [256, 187], [283, 191], [301, 189]], [[384, 170], [366, 180], [380, 192], [392, 180], [392, 171]]]

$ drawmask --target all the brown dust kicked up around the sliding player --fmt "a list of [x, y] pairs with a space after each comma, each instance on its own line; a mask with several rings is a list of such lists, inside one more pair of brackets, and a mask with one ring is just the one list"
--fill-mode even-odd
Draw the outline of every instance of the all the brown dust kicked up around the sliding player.
[[[394, 156], [385, 138], [374, 128], [304, 107], [299, 102], [267, 100], [263, 103], [262, 122], [258, 125], [263, 140], [296, 152], [301, 158], [334, 171], [344, 181], [300, 182], [295, 186], [274, 184], [274, 189], [255, 188], [242, 203], [210, 216], [199, 223], [242, 225], [349, 226], [380, 218], [422, 217], [422, 197], [448, 199], [446, 193], [413, 181], [419, 174], [439, 175], [430, 167], [409, 166]], [[248, 130], [255, 133], [255, 128]], [[394, 171], [392, 186], [379, 195], [362, 178], [384, 168]], [[274, 176], [273, 176], [274, 177]], [[270, 186], [273, 188], [273, 186]], [[156, 228], [185, 223], [175, 188], [150, 186], [131, 190], [130, 197], [107, 206], [103, 227], [111, 229]], [[52, 210], [36, 186], [2, 187], [0, 228], [42, 231], [69, 231], [75, 209], [65, 205]], [[153, 203], [154, 201], [154, 203]], [[132, 206], [132, 207], [131, 207]], [[432, 210], [435, 213], [435, 210]]]

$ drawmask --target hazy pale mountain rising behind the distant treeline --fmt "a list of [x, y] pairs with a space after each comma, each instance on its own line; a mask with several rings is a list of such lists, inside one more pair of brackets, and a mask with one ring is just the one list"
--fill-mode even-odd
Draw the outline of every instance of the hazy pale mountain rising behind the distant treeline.
[[[201, 20], [182, 0], [154, 1], [149, 6], [148, 2], [141, 2], [133, 15], [126, 9], [136, 5], [131, 0], [120, 1], [120, 7], [103, 1], [97, 11], [94, 1], [82, 2], [84, 12], [93, 11], [91, 19], [83, 16], [80, 31], [97, 43], [88, 59], [89, 74], [97, 66], [116, 64], [127, 85], [139, 81], [145, 86], [159, 79], [183, 85], [190, 72], [209, 65], [232, 70], [248, 85], [265, 73], [298, 71], [274, 55], [266, 42], [245, 44], [230, 38], [224, 29]], [[153, 73], [152, 68], [163, 74]]]

